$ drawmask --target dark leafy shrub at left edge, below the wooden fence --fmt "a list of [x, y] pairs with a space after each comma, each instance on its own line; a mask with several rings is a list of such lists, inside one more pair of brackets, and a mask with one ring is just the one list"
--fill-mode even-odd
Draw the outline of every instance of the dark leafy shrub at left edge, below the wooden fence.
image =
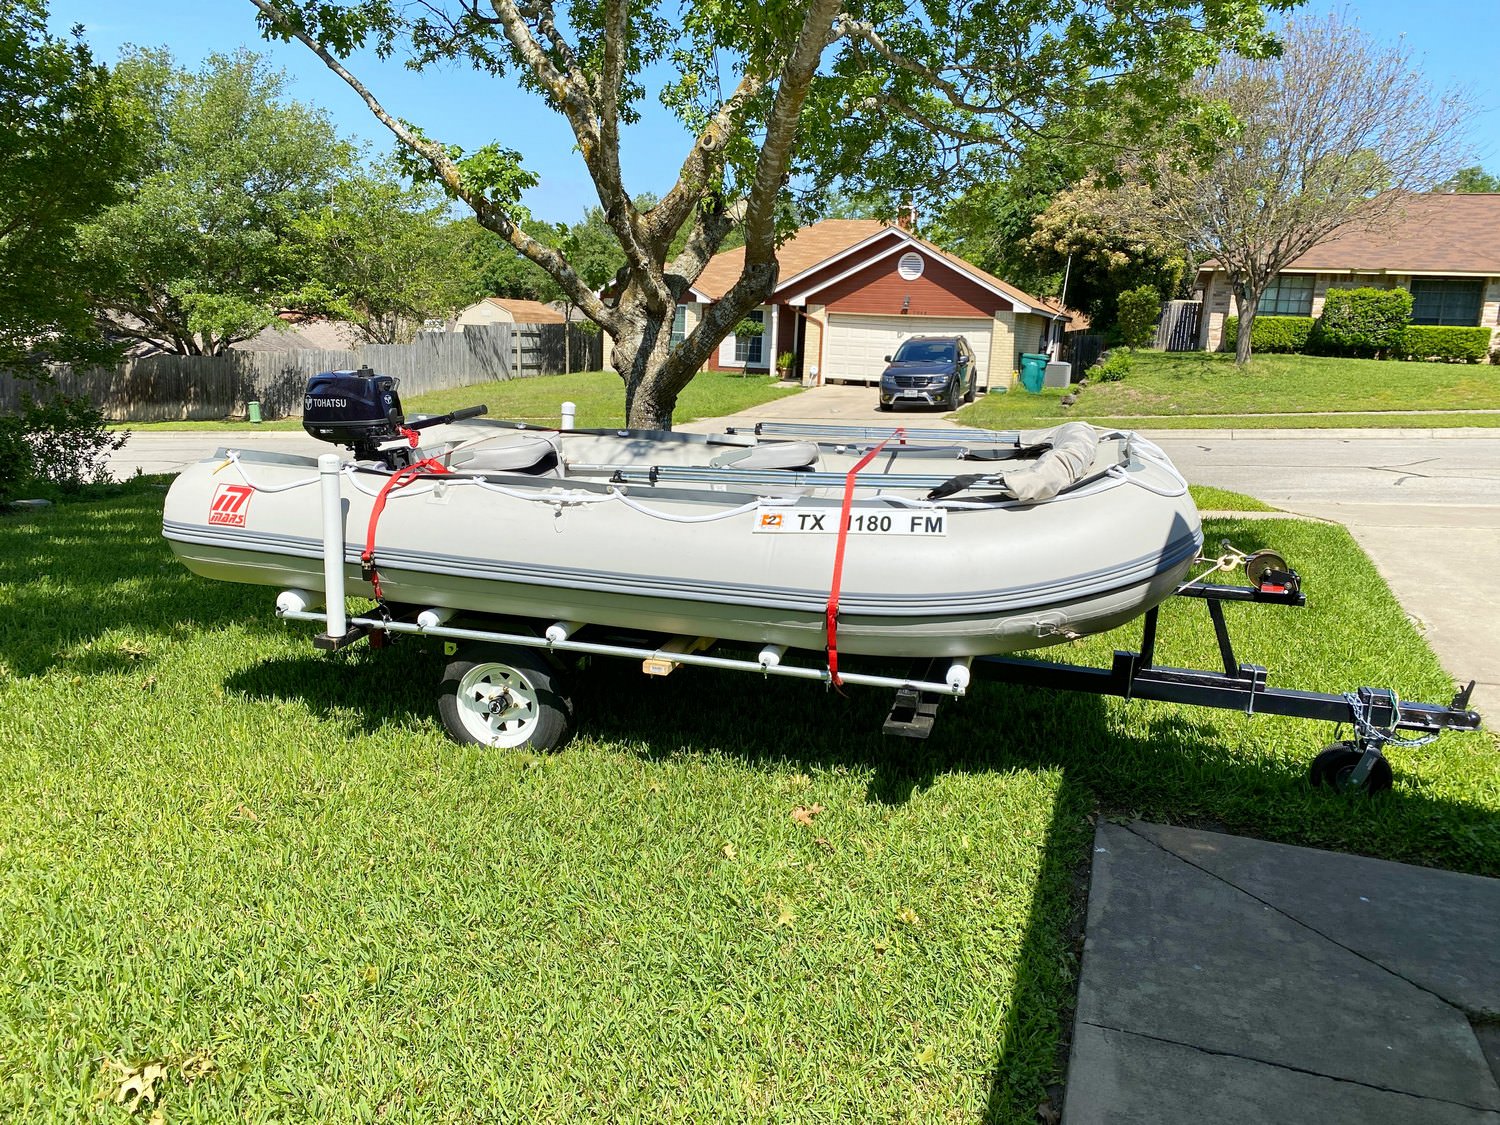
[[105, 429], [104, 412], [82, 396], [24, 394], [20, 412], [0, 418], [0, 500], [22, 486], [76, 492], [108, 480], [105, 462], [129, 436]]

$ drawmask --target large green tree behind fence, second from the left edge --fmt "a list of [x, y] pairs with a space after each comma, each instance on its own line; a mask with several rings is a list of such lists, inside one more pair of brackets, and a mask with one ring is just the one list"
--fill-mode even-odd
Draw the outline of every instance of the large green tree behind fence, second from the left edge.
[[118, 336], [222, 352], [294, 303], [308, 276], [298, 231], [354, 152], [250, 52], [188, 72], [136, 51], [116, 78], [142, 118], [142, 164], [129, 196], [82, 231], [94, 308]]

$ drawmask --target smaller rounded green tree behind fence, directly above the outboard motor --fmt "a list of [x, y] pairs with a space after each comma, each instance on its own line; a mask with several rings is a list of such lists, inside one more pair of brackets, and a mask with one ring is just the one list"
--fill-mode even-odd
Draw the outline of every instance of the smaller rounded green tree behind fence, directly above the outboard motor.
[[472, 303], [484, 292], [468, 254], [474, 228], [447, 210], [442, 192], [388, 168], [338, 180], [328, 204], [297, 220], [310, 280], [292, 303], [348, 321], [375, 344], [404, 344], [423, 321]]

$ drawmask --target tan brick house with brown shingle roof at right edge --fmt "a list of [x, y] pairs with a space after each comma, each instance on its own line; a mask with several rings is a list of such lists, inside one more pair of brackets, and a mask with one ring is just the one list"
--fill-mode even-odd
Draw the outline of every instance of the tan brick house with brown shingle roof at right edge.
[[[1413, 324], [1485, 326], [1500, 345], [1500, 195], [1418, 195], [1383, 230], [1346, 230], [1284, 268], [1260, 298], [1260, 316], [1317, 316], [1330, 288], [1412, 291]], [[1198, 270], [1198, 342], [1218, 351], [1236, 315], [1228, 276]]]

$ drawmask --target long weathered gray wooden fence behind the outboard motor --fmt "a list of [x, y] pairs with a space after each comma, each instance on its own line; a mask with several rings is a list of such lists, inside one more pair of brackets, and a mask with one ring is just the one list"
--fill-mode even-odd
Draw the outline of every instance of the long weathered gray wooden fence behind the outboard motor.
[[366, 344], [357, 350], [231, 351], [225, 356], [148, 356], [116, 368], [57, 368], [51, 384], [0, 374], [0, 412], [22, 394], [81, 394], [112, 422], [213, 422], [244, 416], [302, 414], [309, 375], [368, 364], [400, 380], [402, 394], [476, 382], [560, 375], [564, 333], [572, 370], [603, 368], [603, 336], [562, 324], [484, 324], [462, 332], [422, 333], [411, 344]]

